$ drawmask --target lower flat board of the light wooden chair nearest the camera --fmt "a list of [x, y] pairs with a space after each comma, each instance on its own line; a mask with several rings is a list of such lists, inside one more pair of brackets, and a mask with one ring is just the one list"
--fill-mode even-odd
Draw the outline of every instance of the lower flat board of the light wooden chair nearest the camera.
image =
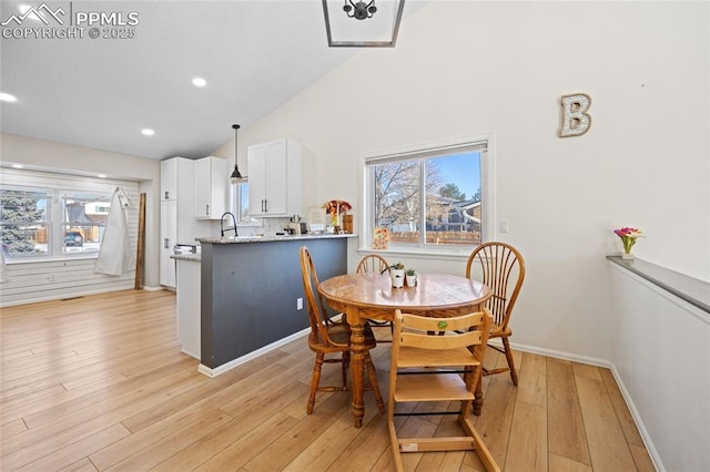
[[394, 399], [402, 402], [473, 400], [474, 393], [458, 373], [427, 372], [399, 377]]

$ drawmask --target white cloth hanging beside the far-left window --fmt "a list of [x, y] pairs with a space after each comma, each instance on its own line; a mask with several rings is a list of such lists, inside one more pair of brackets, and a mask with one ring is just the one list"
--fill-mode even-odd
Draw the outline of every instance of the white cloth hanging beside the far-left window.
[[125, 194], [116, 188], [111, 198], [109, 218], [101, 238], [95, 271], [119, 276], [135, 269], [135, 255], [129, 240], [128, 209], [130, 202]]

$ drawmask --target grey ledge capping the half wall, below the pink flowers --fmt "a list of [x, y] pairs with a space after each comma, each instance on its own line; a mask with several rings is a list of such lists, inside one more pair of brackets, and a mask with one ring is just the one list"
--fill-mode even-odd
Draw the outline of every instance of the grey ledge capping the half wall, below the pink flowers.
[[710, 315], [710, 284], [707, 281], [641, 259], [626, 260], [620, 256], [607, 256], [607, 259]]

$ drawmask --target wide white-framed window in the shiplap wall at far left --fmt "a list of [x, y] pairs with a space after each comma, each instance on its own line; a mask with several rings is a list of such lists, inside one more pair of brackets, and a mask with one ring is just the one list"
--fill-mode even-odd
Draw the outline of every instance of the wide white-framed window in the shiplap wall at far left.
[[[60, 203], [53, 205], [53, 202]], [[98, 255], [111, 195], [58, 188], [0, 188], [0, 238], [8, 259]]]

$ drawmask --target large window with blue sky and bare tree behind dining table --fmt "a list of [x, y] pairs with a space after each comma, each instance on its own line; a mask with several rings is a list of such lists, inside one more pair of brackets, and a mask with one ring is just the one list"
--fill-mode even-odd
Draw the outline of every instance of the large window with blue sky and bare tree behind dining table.
[[470, 252], [487, 239], [488, 140], [366, 157], [365, 225], [388, 230], [389, 250]]

